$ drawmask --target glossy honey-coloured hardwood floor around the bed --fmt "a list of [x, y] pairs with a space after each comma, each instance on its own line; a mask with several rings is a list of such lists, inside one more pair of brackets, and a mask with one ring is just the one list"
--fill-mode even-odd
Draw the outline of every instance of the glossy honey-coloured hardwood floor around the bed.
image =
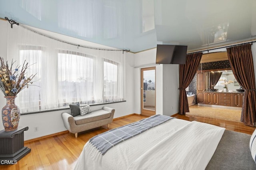
[[[243, 123], [224, 121], [220, 119], [209, 119], [206, 117], [188, 117], [185, 115], [175, 115], [178, 119], [188, 121], [199, 121], [212, 125], [224, 127], [227, 130], [234, 130], [252, 134], [255, 128], [245, 126]], [[128, 123], [139, 121], [146, 117], [132, 115], [122, 119], [117, 119], [110, 124], [110, 128], [120, 127]], [[78, 134], [66, 133], [54, 137], [49, 137], [34, 142], [25, 143], [31, 148], [31, 152], [14, 165], [0, 165], [1, 170], [71, 170], [74, 169], [77, 158], [82, 152], [84, 144], [93, 136], [105, 132], [104, 128], [95, 128]]]

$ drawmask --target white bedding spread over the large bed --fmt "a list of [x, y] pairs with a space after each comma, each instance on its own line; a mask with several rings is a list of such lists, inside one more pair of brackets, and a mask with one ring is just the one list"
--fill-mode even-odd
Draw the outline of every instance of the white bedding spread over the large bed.
[[214, 125], [171, 119], [114, 146], [100, 161], [87, 142], [75, 169], [204, 169], [223, 133]]

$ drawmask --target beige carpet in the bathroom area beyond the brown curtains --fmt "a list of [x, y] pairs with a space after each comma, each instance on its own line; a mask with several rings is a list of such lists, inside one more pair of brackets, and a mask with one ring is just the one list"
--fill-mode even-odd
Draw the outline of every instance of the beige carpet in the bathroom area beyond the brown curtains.
[[214, 119], [222, 119], [226, 121], [240, 122], [241, 109], [224, 109], [218, 107], [207, 107], [193, 105], [189, 107], [186, 115], [209, 117]]

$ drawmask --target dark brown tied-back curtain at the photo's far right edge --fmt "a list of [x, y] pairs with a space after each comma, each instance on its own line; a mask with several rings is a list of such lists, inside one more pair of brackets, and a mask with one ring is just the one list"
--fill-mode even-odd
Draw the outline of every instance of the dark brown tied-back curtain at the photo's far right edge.
[[228, 59], [234, 77], [245, 89], [241, 122], [244, 125], [256, 125], [256, 86], [251, 44], [227, 48]]

